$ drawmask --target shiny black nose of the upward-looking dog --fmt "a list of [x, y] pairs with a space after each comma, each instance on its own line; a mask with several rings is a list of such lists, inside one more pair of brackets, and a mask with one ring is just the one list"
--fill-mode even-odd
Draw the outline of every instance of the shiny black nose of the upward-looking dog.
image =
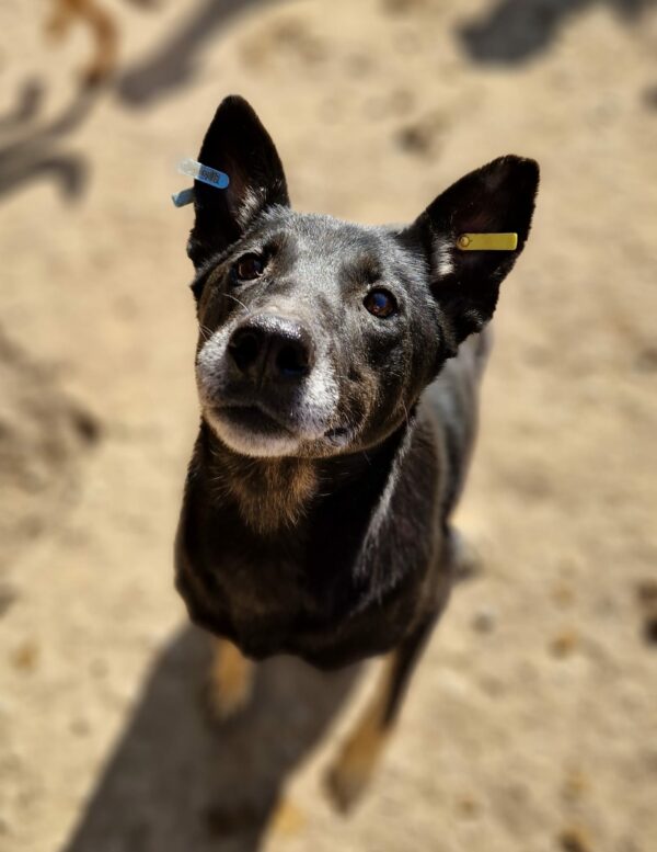
[[262, 314], [244, 320], [231, 334], [228, 352], [245, 376], [262, 380], [299, 379], [312, 368], [308, 330], [296, 320]]

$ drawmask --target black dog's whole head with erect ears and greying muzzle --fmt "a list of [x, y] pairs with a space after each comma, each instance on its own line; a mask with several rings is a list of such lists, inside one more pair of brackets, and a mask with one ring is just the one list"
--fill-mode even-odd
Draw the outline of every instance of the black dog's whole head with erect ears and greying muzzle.
[[[199, 160], [230, 184], [195, 182], [198, 393], [218, 438], [250, 456], [354, 452], [399, 428], [492, 317], [539, 180], [533, 160], [502, 157], [406, 227], [295, 213], [274, 143], [237, 96]], [[459, 235], [476, 231], [516, 231], [518, 248], [459, 250]]]

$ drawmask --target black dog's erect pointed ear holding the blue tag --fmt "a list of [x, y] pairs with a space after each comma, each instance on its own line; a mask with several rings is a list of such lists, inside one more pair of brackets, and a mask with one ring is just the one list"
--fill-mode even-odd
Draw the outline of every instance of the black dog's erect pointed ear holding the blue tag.
[[219, 190], [194, 181], [196, 219], [187, 254], [196, 268], [238, 240], [258, 213], [289, 205], [276, 147], [243, 98], [231, 95], [219, 104], [198, 159], [228, 174], [230, 183]]

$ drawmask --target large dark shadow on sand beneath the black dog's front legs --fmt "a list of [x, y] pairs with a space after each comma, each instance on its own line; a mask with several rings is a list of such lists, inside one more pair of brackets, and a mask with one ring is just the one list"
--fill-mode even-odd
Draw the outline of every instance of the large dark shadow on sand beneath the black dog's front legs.
[[200, 701], [208, 664], [192, 628], [162, 652], [66, 852], [256, 850], [287, 774], [359, 673], [269, 660], [249, 706], [219, 724]]

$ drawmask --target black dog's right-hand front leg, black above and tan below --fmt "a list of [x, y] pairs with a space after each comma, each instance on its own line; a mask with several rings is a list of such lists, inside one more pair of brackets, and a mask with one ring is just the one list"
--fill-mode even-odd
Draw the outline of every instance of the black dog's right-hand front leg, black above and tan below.
[[436, 616], [423, 621], [402, 645], [388, 655], [371, 702], [328, 770], [328, 795], [344, 813], [351, 808], [369, 784], [399, 715], [411, 673], [435, 623]]

